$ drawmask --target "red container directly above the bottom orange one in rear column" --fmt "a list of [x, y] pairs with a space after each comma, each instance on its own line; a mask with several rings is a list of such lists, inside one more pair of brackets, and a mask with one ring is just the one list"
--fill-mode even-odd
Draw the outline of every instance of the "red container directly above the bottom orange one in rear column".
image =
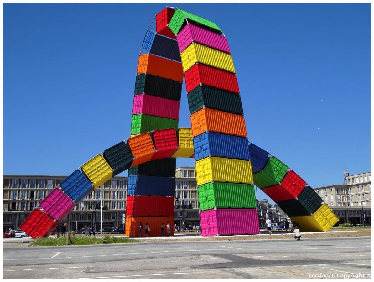
[[126, 215], [133, 217], [174, 216], [174, 197], [128, 195]]

